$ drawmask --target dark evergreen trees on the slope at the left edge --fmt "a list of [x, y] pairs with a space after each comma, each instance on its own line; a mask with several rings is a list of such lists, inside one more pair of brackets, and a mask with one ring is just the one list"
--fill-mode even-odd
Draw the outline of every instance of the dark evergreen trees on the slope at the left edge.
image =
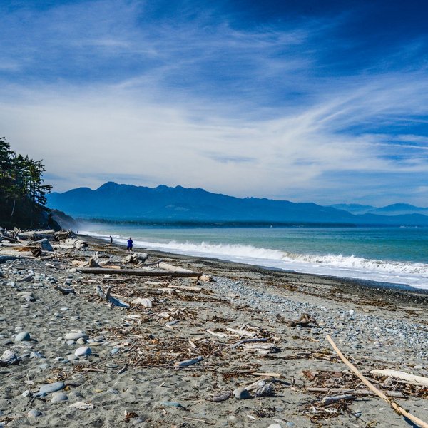
[[6, 228], [39, 228], [51, 224], [41, 161], [11, 150], [6, 138], [0, 138], [0, 225]]

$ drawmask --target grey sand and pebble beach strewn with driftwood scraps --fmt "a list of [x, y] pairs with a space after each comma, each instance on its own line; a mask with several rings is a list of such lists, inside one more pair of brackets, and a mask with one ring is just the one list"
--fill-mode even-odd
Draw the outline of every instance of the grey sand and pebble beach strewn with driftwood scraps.
[[[327, 335], [428, 421], [427, 386], [371, 373], [428, 377], [423, 290], [143, 249], [136, 267], [121, 245], [78, 238], [88, 247], [52, 242], [39, 258], [0, 264], [0, 354], [16, 356], [0, 367], [0, 426], [408, 427]], [[82, 270], [96, 252], [108, 273]], [[110, 271], [159, 260], [202, 275]]]

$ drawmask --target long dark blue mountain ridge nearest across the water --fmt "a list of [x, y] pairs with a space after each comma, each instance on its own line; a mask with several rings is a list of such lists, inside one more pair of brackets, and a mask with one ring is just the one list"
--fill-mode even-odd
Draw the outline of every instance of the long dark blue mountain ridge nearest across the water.
[[146, 222], [263, 222], [428, 225], [424, 215], [352, 215], [315, 203], [234, 198], [203, 189], [137, 187], [106, 183], [96, 190], [77, 188], [49, 195], [48, 205], [78, 218]]

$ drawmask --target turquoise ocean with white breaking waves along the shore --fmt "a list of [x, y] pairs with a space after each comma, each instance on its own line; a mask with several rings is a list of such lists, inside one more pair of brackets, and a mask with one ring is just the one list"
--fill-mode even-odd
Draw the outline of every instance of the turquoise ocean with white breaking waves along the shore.
[[86, 224], [135, 248], [428, 290], [428, 228], [155, 227]]

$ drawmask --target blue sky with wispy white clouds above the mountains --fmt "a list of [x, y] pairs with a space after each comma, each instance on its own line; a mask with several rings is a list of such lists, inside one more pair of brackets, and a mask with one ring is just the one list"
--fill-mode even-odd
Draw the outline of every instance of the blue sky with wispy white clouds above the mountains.
[[106, 181], [428, 206], [426, 1], [0, 1], [0, 136]]

